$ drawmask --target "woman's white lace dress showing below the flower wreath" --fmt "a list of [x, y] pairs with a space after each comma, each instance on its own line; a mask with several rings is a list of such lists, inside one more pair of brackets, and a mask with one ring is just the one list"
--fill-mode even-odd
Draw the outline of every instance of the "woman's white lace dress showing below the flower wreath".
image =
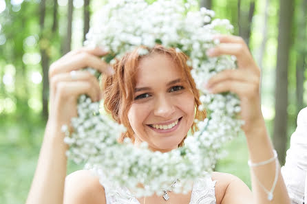
[[[193, 183], [189, 204], [216, 204], [215, 183], [210, 177], [197, 179]], [[127, 188], [109, 190], [105, 188], [107, 204], [140, 204]]]

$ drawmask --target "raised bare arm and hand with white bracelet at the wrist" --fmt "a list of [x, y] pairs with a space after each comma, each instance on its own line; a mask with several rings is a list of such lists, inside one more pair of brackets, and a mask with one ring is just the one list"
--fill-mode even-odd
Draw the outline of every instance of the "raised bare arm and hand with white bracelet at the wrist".
[[[222, 54], [233, 55], [237, 58], [238, 69], [225, 70], [213, 76], [207, 84], [207, 89], [211, 93], [222, 93], [231, 91], [237, 93], [241, 100], [241, 117], [244, 120], [242, 129], [246, 135], [248, 153], [253, 163], [271, 159], [273, 146], [266, 132], [266, 126], [260, 107], [260, 69], [255, 64], [251, 53], [243, 39], [237, 36], [220, 35], [216, 36], [220, 40], [220, 45], [209, 50], [209, 56], [219, 56]], [[286, 191], [286, 186], [281, 177], [279, 163], [277, 163], [277, 185], [273, 192], [273, 200], [268, 201], [268, 194], [263, 190], [262, 185], [268, 191], [271, 190], [275, 178], [275, 162], [268, 163], [259, 167], [251, 168], [251, 180], [253, 196], [242, 203], [271, 203], [289, 204], [290, 199]], [[260, 181], [258, 182], [257, 179]], [[237, 194], [232, 194], [232, 188], [227, 188], [224, 203], [236, 202]]]

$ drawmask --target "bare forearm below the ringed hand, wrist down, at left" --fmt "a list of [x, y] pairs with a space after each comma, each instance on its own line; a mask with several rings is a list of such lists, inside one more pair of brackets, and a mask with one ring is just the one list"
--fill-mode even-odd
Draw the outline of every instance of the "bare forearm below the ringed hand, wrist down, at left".
[[60, 128], [47, 124], [27, 204], [63, 203], [66, 149]]

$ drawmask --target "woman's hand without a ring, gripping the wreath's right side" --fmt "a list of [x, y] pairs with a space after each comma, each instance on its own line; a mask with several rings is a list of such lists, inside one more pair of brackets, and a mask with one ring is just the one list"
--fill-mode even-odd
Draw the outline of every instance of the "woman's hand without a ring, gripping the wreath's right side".
[[211, 93], [231, 91], [241, 100], [241, 117], [244, 120], [242, 129], [245, 133], [257, 129], [263, 124], [260, 102], [260, 68], [253, 56], [238, 36], [218, 35], [220, 45], [209, 49], [208, 56], [233, 55], [237, 58], [238, 69], [224, 70], [213, 76], [206, 85]]

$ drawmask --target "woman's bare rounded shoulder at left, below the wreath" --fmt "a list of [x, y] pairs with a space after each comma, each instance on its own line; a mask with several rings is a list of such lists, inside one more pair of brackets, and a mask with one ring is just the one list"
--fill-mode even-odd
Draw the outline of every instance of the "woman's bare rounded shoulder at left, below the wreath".
[[89, 170], [72, 172], [65, 179], [64, 204], [105, 204], [105, 190]]

